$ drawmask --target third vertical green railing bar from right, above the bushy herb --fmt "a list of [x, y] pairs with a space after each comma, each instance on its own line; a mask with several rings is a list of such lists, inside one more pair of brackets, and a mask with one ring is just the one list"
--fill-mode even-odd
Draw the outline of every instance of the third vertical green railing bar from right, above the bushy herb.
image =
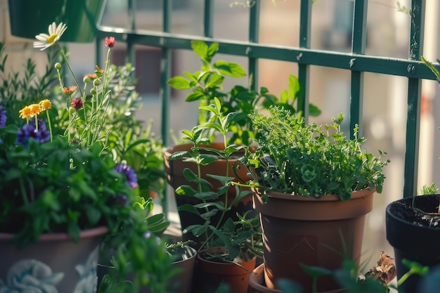
[[[301, 14], [299, 20], [299, 48], [310, 48], [311, 33], [311, 5], [312, 0], [301, 1]], [[297, 55], [297, 60], [302, 60], [302, 55]], [[308, 63], [298, 64], [299, 84], [304, 86], [303, 96], [298, 97], [297, 110], [302, 111], [306, 122], [309, 120], [309, 75], [310, 65]]]

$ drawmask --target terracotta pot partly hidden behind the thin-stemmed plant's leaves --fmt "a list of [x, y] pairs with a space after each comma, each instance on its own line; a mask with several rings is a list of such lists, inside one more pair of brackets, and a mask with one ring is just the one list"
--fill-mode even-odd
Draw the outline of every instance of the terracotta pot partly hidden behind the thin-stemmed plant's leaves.
[[[183, 145], [175, 145], [172, 147], [167, 148], [164, 151], [164, 169], [167, 172], [167, 182], [169, 185], [172, 186], [174, 190], [178, 188], [181, 185], [192, 185], [193, 188], [196, 188], [197, 186], [193, 183], [189, 183], [186, 181], [185, 177], [183, 176], [183, 170], [186, 168], [191, 169], [195, 174], [198, 174], [198, 171], [196, 169], [196, 165], [191, 162], [183, 162], [183, 159], [175, 159], [173, 161], [169, 161], [169, 157], [174, 152], [181, 152], [181, 151], [189, 151], [191, 147], [193, 146], [192, 143], [187, 143]], [[212, 143], [210, 146], [211, 148], [216, 149], [223, 149], [224, 145], [223, 143]], [[238, 164], [237, 159], [241, 157], [241, 155], [238, 155], [235, 159], [230, 159], [228, 161], [228, 169], [229, 169], [229, 175], [230, 177], [234, 176], [234, 173], [232, 171], [233, 165]], [[202, 178], [209, 181], [209, 183], [212, 184], [213, 188], [212, 190], [217, 190], [221, 187], [221, 184], [219, 181], [216, 181], [212, 178], [209, 178], [206, 176], [206, 174], [213, 174], [213, 175], [220, 175], [220, 176], [226, 176], [226, 160], [219, 159], [216, 162], [212, 162], [211, 164], [207, 166], [202, 166], [201, 168], [202, 172]], [[247, 180], [247, 169], [245, 167], [242, 167], [239, 169], [238, 174], [241, 178]], [[195, 197], [186, 197], [186, 196], [180, 196], [175, 195], [176, 198], [176, 205], [177, 207], [180, 207], [182, 204], [199, 204], [201, 201], [198, 200]], [[232, 202], [232, 200], [235, 198], [235, 188], [231, 187], [228, 190], [228, 202]], [[220, 197], [221, 200], [225, 200], [224, 196]], [[248, 196], [244, 197], [242, 200], [237, 202], [235, 204], [234, 208], [228, 211], [225, 215], [224, 219], [232, 218], [234, 220], [238, 220], [236, 213], [244, 214], [245, 211], [252, 211], [252, 194], [249, 194]], [[212, 225], [216, 225], [219, 221], [219, 213], [217, 213], [216, 216], [212, 217]], [[179, 211], [179, 217], [181, 220], [181, 229], [184, 230], [190, 225], [200, 224], [202, 225], [205, 223], [204, 220], [200, 218], [197, 214], [190, 213], [188, 211]], [[195, 240], [195, 242], [200, 242], [201, 240], [194, 239], [193, 235], [183, 235], [184, 240]]]

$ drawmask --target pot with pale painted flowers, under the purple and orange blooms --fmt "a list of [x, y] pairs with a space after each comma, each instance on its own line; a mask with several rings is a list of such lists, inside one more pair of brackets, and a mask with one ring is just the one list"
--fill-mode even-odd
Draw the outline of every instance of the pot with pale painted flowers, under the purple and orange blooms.
[[45, 234], [38, 243], [25, 249], [11, 243], [14, 235], [0, 233], [1, 289], [6, 292], [22, 292], [24, 288], [29, 292], [96, 292], [98, 247], [107, 231], [106, 227], [84, 230], [78, 243], [67, 234]]

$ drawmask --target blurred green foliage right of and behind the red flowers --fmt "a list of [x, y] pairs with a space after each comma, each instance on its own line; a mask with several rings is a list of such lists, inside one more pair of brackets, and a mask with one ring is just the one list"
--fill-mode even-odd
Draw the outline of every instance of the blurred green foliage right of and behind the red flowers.
[[147, 199], [150, 192], [162, 195], [164, 190], [163, 145], [152, 131], [153, 121], [136, 118], [142, 104], [135, 89], [138, 80], [133, 77], [134, 70], [130, 63], [110, 67], [108, 88], [112, 98], [103, 132], [108, 134], [106, 151], [112, 152], [117, 162], [126, 162], [136, 171], [140, 195]]

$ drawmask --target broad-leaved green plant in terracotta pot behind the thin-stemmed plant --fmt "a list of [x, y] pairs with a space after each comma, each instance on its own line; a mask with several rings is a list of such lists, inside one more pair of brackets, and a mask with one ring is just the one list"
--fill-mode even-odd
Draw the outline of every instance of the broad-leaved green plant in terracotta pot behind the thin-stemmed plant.
[[[198, 125], [202, 125], [210, 122], [213, 117], [213, 113], [205, 108], [207, 105], [213, 104], [214, 99], [218, 98], [221, 103], [221, 112], [224, 116], [229, 113], [235, 113], [229, 117], [228, 121], [228, 138], [223, 142], [215, 140], [213, 131], [215, 129], [205, 129], [200, 134], [201, 143], [197, 145], [198, 148], [202, 148], [204, 144], [209, 141], [209, 148], [216, 148], [219, 151], [225, 150], [226, 145], [250, 145], [254, 138], [254, 129], [248, 115], [256, 108], [268, 109], [273, 105], [280, 105], [283, 108], [289, 109], [295, 112], [294, 104], [298, 98], [302, 98], [302, 87], [299, 81], [293, 75], [289, 77], [289, 91], [283, 91], [280, 98], [277, 98], [273, 94], [269, 93], [268, 89], [261, 87], [258, 91], [252, 90], [252, 77], [249, 80], [249, 87], [235, 85], [229, 91], [224, 89], [224, 82], [226, 78], [240, 79], [245, 77], [246, 73], [242, 66], [237, 63], [230, 63], [224, 60], [214, 60], [216, 53], [219, 49], [218, 43], [212, 43], [208, 45], [205, 41], [192, 41], [191, 43], [194, 53], [196, 53], [202, 60], [202, 67], [197, 72], [185, 72], [184, 76], [172, 77], [169, 80], [169, 85], [178, 90], [190, 90], [186, 101], [199, 102], [199, 115]], [[319, 110], [315, 106], [311, 105], [311, 115], [318, 115]], [[205, 141], [202, 141], [202, 138]], [[169, 146], [164, 150], [164, 165], [167, 172], [167, 182], [175, 190], [180, 185], [188, 184], [188, 181], [183, 177], [183, 170], [186, 168], [193, 168], [195, 165], [187, 162], [184, 157], [181, 159], [169, 160], [169, 157], [174, 153], [186, 152], [186, 155], [190, 157], [192, 152], [193, 143], [180, 143], [177, 145]], [[214, 155], [214, 152], [210, 152]], [[228, 159], [228, 173], [232, 174], [233, 166], [237, 164], [236, 159], [241, 155], [235, 157], [231, 156]], [[202, 178], [209, 181], [216, 188], [220, 188], [219, 181], [205, 176], [205, 174], [215, 174], [219, 176], [225, 176], [224, 171], [225, 159], [217, 157], [217, 159], [210, 159], [209, 166], [200, 164], [200, 171], [202, 172]], [[239, 170], [240, 177], [246, 177], [246, 171], [244, 168]], [[193, 185], [195, 188], [195, 185]], [[234, 189], [231, 188], [229, 195], [233, 196]], [[181, 204], [190, 203], [195, 204], [198, 200], [188, 199], [187, 197], [180, 197], [176, 195], [176, 203], [179, 207]], [[228, 216], [235, 217], [235, 212], [242, 212], [252, 209], [252, 198], [250, 195], [236, 202], [235, 207], [228, 212]], [[190, 226], [193, 223], [200, 223], [197, 217], [187, 211], [179, 210], [179, 216], [181, 219], [182, 230]], [[198, 222], [197, 222], [198, 221]]]

